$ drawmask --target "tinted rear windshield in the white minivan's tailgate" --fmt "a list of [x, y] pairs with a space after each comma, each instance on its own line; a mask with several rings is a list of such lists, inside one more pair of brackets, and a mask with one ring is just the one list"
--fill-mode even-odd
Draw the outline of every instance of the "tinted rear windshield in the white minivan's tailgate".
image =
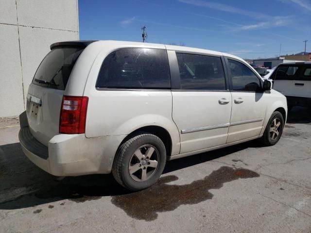
[[80, 56], [81, 48], [56, 48], [42, 60], [35, 72], [36, 85], [65, 90], [71, 70]]

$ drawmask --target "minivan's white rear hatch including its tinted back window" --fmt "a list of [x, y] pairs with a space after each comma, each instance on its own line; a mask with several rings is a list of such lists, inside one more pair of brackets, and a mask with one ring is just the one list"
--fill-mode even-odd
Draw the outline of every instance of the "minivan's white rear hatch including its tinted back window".
[[26, 112], [34, 137], [48, 146], [59, 134], [62, 98], [70, 73], [84, 47], [54, 46], [35, 72], [27, 94]]

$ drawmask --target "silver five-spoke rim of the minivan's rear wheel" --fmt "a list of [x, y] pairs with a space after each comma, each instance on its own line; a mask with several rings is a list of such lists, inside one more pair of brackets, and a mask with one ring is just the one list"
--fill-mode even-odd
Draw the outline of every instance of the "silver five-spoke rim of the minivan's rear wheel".
[[152, 145], [143, 145], [133, 153], [128, 170], [134, 181], [143, 182], [155, 174], [158, 164], [158, 150]]

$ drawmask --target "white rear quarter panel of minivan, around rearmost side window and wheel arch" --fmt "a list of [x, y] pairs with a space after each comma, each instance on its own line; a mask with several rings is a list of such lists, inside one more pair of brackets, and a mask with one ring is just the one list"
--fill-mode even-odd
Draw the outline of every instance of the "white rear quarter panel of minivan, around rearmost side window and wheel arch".
[[[172, 119], [172, 93], [169, 90], [97, 90], [95, 85], [104, 58], [119, 48], [156, 48], [163, 45], [113, 41], [95, 42], [100, 53], [88, 74], [84, 96], [89, 98], [86, 115], [86, 137], [124, 135], [144, 126], [160, 126], [168, 131], [172, 139], [172, 155], [180, 150], [180, 139]], [[90, 45], [90, 46], [91, 46]]]

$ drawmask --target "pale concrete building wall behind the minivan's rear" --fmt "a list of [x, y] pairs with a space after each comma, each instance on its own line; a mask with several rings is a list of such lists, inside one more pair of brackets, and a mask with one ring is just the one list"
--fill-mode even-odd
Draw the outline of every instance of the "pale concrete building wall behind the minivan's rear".
[[50, 45], [78, 39], [77, 0], [0, 0], [0, 117], [24, 111]]

